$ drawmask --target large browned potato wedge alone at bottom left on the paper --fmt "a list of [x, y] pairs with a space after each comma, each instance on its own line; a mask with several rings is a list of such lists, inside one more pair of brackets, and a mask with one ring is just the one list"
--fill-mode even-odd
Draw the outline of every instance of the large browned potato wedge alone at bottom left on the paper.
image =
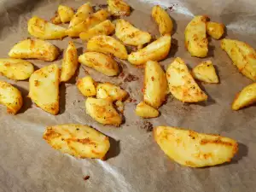
[[55, 125], [44, 131], [44, 140], [63, 154], [104, 159], [110, 148], [107, 136], [87, 125]]

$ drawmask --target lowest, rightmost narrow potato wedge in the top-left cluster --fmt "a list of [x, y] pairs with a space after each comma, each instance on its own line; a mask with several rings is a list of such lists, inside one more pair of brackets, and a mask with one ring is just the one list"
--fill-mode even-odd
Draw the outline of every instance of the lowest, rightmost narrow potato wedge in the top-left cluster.
[[87, 32], [81, 32], [79, 38], [88, 41], [90, 38], [97, 35], [110, 35], [114, 32], [115, 26], [110, 20], [104, 20], [100, 24], [90, 28]]

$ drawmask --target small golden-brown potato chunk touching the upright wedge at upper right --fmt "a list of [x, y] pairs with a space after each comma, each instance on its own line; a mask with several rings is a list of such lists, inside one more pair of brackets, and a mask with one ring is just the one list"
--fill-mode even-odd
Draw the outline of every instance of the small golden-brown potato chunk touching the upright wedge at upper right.
[[219, 39], [224, 34], [225, 26], [222, 23], [217, 22], [207, 22], [207, 34], [212, 38]]

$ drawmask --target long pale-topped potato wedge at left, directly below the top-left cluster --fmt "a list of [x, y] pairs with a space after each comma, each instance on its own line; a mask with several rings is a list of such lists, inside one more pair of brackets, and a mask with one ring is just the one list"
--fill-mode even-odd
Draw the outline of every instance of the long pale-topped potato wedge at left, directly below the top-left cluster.
[[43, 61], [55, 61], [60, 55], [59, 49], [40, 39], [26, 39], [10, 49], [10, 57], [16, 59], [38, 59]]

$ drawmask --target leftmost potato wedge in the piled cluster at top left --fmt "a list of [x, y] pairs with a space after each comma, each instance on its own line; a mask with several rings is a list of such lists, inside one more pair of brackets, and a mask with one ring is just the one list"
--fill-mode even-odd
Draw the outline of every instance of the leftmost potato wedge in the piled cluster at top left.
[[56, 26], [46, 20], [33, 16], [27, 22], [27, 31], [36, 38], [41, 39], [62, 39], [65, 38], [66, 28]]

